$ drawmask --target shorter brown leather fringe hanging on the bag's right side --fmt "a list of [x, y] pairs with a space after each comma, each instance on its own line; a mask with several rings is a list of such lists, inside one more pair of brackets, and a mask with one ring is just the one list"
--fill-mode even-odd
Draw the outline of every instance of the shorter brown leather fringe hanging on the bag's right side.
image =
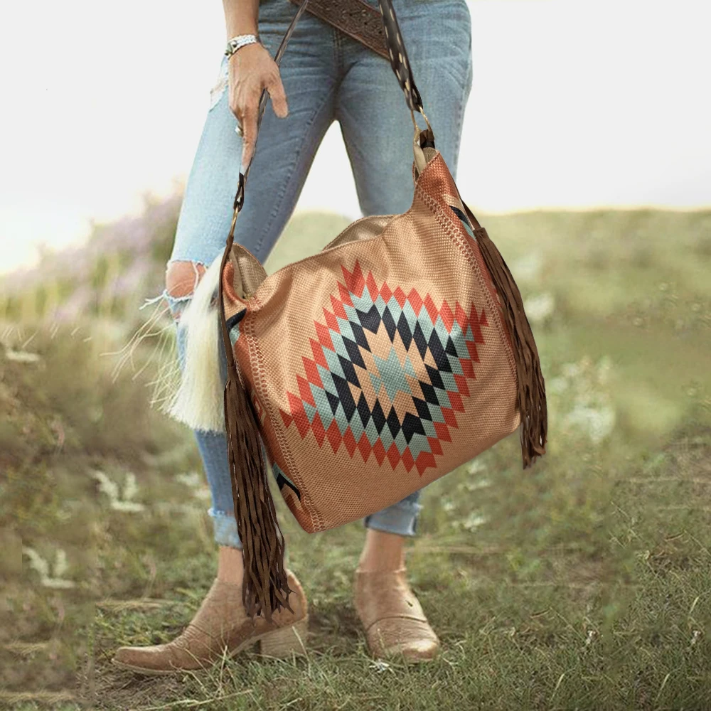
[[[460, 196], [461, 199], [461, 196]], [[523, 310], [523, 299], [496, 245], [489, 239], [486, 230], [479, 225], [474, 214], [464, 201], [467, 215], [476, 228], [476, 243], [491, 274], [491, 279], [501, 297], [503, 316], [513, 346], [516, 362], [518, 394], [516, 407], [521, 416], [520, 439], [523, 469], [545, 454], [547, 442], [548, 414], [545, 400], [545, 383], [540, 370], [538, 348], [536, 348], [528, 318]]]

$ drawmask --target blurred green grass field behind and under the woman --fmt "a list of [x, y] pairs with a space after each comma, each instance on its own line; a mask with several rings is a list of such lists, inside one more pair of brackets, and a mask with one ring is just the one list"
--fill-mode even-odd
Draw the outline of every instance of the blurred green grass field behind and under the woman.
[[[3, 302], [0, 707], [711, 709], [711, 213], [480, 219], [526, 301], [549, 448], [522, 471], [514, 434], [423, 491], [407, 565], [442, 639], [429, 665], [368, 656], [351, 602], [362, 523], [308, 535], [273, 488], [309, 656], [114, 670], [117, 646], [176, 636], [213, 579], [200, 460], [149, 406], [156, 339], [112, 379], [101, 354], [140, 321], [97, 282], [110, 269], [90, 270], [103, 296], [87, 319], [41, 319], [47, 289]], [[345, 225], [295, 216], [267, 271]]]

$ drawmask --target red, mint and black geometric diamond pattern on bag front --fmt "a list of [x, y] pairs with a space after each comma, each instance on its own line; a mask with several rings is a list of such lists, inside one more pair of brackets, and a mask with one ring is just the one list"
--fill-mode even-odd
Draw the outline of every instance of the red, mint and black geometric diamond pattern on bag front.
[[[462, 222], [469, 228], [466, 216]], [[460, 218], [460, 219], [461, 219]], [[488, 320], [475, 304], [434, 303], [429, 294], [377, 284], [355, 261], [341, 265], [343, 283], [314, 321], [313, 358], [302, 358], [298, 392], [287, 392], [284, 426], [319, 447], [341, 447], [363, 461], [371, 455], [392, 469], [402, 461], [419, 475], [436, 466], [442, 442], [451, 442], [457, 412], [476, 378], [477, 345]], [[465, 435], [466, 436], [466, 435]]]

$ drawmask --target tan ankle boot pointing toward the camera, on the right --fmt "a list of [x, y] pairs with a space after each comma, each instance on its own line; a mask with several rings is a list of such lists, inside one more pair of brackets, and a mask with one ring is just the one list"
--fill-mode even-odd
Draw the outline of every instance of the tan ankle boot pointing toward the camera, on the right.
[[436, 656], [439, 639], [410, 589], [404, 567], [356, 570], [353, 602], [375, 658], [402, 654], [408, 661], [429, 661]]

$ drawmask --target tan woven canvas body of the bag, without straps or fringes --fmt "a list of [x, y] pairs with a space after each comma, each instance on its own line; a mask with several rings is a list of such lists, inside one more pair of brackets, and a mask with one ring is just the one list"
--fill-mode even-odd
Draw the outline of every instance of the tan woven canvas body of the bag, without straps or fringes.
[[262, 270], [246, 299], [244, 247], [223, 274], [240, 377], [309, 533], [402, 500], [520, 424], [501, 304], [442, 154], [406, 213], [359, 229]]

